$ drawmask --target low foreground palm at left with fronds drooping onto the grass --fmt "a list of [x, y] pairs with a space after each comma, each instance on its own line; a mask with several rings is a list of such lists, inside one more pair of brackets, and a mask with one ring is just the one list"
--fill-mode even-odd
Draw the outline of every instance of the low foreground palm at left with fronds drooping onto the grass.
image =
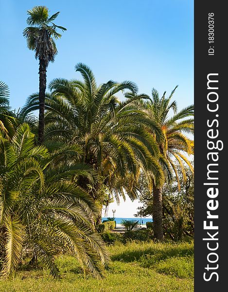
[[58, 276], [54, 256], [65, 251], [78, 259], [84, 272], [101, 277], [108, 255], [89, 223], [97, 208], [71, 180], [75, 174], [91, 176], [93, 170], [62, 161], [58, 165], [59, 154], [76, 153], [77, 148], [66, 146], [50, 153], [45, 146], [35, 146], [34, 136], [22, 124], [11, 141], [0, 138], [1, 275], [15, 271], [21, 256], [29, 253]]

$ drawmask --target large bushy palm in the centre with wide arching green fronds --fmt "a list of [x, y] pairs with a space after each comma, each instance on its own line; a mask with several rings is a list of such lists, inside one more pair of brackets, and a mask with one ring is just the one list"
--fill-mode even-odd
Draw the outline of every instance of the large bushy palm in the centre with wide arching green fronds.
[[[88, 66], [79, 63], [75, 69], [83, 81], [54, 79], [49, 85], [52, 94], [46, 94], [45, 139], [82, 147], [81, 162], [91, 165], [100, 176], [101, 183], [89, 189], [91, 197], [100, 204], [104, 203], [106, 188], [115, 187], [115, 178], [127, 173], [136, 178], [140, 167], [153, 169], [157, 180], [162, 179], [155, 159], [158, 145], [145, 126], [154, 128], [157, 137], [160, 129], [142, 111], [121, 103], [116, 96], [124, 90], [136, 93], [136, 85], [109, 80], [97, 86]], [[37, 97], [37, 93], [29, 97], [25, 113], [37, 110]], [[78, 183], [88, 190], [89, 181], [84, 177]]]

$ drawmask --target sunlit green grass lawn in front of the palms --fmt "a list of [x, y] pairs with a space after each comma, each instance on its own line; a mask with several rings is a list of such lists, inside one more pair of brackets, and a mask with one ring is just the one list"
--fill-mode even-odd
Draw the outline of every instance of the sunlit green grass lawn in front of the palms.
[[61, 279], [48, 270], [20, 271], [0, 281], [4, 292], [193, 292], [193, 243], [128, 243], [108, 247], [112, 263], [103, 280], [85, 277], [77, 260], [59, 256]]

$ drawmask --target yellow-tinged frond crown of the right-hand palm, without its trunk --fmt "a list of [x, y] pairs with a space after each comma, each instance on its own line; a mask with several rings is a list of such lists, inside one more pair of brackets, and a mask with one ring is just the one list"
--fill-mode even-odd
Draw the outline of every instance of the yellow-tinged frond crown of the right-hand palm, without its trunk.
[[[147, 104], [147, 113], [151, 119], [155, 121], [163, 132], [164, 140], [158, 142], [161, 154], [168, 160], [169, 166], [175, 172], [178, 181], [178, 174], [173, 159], [177, 161], [182, 169], [182, 175], [185, 180], [185, 170], [182, 162], [188, 164], [193, 170], [192, 164], [184, 155], [193, 154], [193, 140], [186, 134], [193, 134], [194, 131], [194, 106], [188, 106], [177, 111], [176, 102], [171, 102], [171, 98], [176, 90], [171, 92], [168, 98], [165, 97], [166, 92], [159, 98], [158, 91], [152, 90], [152, 100]], [[173, 114], [171, 114], [173, 110]], [[172, 178], [172, 173], [167, 169], [166, 175], [168, 179]]]

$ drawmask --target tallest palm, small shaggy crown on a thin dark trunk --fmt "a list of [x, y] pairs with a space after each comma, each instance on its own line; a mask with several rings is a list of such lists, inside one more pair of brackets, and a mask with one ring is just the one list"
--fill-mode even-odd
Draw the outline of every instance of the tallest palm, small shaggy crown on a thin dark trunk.
[[[44, 110], [45, 110], [45, 91], [47, 83], [47, 67], [49, 62], [54, 61], [57, 55], [57, 49], [54, 39], [61, 37], [56, 28], [65, 31], [66, 28], [58, 26], [53, 21], [59, 15], [59, 12], [49, 17], [49, 10], [45, 6], [35, 6], [28, 10], [29, 17], [23, 31], [23, 36], [27, 38], [27, 46], [35, 51], [35, 58], [39, 60], [39, 127], [38, 143], [44, 142]], [[50, 25], [52, 24], [52, 25]]]

